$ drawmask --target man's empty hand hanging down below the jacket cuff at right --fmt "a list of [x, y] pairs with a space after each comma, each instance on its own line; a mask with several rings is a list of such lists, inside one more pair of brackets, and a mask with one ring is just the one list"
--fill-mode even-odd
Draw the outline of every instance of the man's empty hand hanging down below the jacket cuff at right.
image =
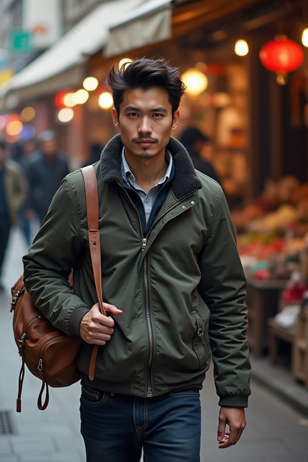
[[[229, 425], [229, 432], [226, 432]], [[221, 407], [219, 413], [218, 436], [219, 448], [229, 448], [238, 442], [246, 426], [243, 407]]]

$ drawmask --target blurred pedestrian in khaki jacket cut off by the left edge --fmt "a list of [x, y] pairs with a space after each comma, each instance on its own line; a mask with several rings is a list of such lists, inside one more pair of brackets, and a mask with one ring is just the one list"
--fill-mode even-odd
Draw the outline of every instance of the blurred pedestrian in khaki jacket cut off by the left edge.
[[[5, 158], [6, 143], [0, 140], [0, 276], [10, 228], [18, 224], [18, 212], [27, 199], [28, 186], [20, 166]], [[0, 290], [3, 286], [0, 282]]]

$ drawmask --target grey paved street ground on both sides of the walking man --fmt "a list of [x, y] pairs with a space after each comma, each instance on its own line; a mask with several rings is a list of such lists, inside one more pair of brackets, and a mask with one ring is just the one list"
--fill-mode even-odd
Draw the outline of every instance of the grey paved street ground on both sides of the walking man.
[[[48, 408], [39, 411], [36, 401], [40, 381], [26, 369], [22, 412], [15, 412], [21, 363], [12, 335], [9, 287], [22, 272], [21, 255], [25, 251], [23, 239], [15, 231], [4, 268], [7, 293], [0, 296], [0, 411], [11, 413], [15, 433], [0, 435], [0, 462], [85, 462], [79, 433], [78, 383], [66, 389], [50, 389]], [[240, 442], [219, 450], [218, 399], [208, 373], [201, 392], [201, 462], [307, 462], [307, 417], [257, 383], [252, 383], [252, 392], [246, 412], [248, 425]]]

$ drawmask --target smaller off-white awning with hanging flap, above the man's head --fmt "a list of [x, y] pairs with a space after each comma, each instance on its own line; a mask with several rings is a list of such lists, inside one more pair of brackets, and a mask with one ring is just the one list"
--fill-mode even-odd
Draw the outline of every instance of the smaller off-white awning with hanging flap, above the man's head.
[[109, 26], [104, 56], [171, 38], [171, 0], [147, 0]]

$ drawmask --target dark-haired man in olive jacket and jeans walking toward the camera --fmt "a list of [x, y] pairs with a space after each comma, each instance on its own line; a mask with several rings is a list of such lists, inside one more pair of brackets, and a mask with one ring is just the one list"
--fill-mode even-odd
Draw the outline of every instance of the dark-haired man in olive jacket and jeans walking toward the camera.
[[[108, 84], [120, 134], [94, 168], [111, 316], [98, 310], [80, 171], [62, 182], [24, 257], [25, 286], [54, 325], [84, 340], [78, 367], [87, 461], [139, 462], [143, 447], [147, 462], [197, 462], [210, 346], [219, 447], [236, 444], [245, 426], [245, 278], [221, 187], [170, 138], [185, 90], [177, 69], [138, 59], [112, 68]], [[93, 344], [100, 347], [91, 382]]]

